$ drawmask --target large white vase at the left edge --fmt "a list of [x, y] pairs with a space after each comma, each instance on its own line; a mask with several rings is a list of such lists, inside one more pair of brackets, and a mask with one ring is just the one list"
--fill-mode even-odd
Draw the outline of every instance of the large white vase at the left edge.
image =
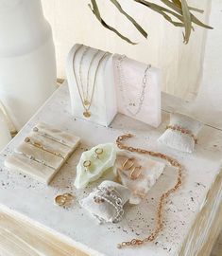
[[41, 0], [0, 0], [0, 101], [17, 130], [56, 89], [56, 77]]

